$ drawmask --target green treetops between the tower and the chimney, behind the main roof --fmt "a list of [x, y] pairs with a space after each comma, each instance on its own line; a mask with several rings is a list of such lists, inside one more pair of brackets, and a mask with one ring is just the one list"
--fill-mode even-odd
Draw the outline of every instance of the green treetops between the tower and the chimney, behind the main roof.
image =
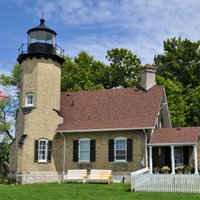
[[79, 91], [115, 87], [132, 87], [140, 83], [141, 61], [127, 49], [111, 49], [106, 66], [81, 52], [72, 60], [65, 57], [62, 65], [61, 90]]

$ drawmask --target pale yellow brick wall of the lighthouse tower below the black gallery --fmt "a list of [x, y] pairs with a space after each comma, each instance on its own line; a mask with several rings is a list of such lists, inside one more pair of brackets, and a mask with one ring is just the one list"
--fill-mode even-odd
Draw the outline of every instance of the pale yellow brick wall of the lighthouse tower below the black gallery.
[[[21, 67], [20, 106], [16, 140], [10, 152], [10, 171], [12, 174], [26, 174], [25, 177], [32, 172], [44, 172], [40, 176], [45, 172], [57, 173], [53, 156], [50, 163], [34, 162], [34, 141], [40, 138], [53, 140], [58, 124], [63, 121], [53, 110], [60, 110], [60, 65], [51, 59], [28, 58]], [[29, 92], [34, 93], [36, 108], [24, 115], [22, 108], [25, 106], [26, 93]], [[27, 137], [24, 144], [19, 145], [19, 138], [23, 134]]]

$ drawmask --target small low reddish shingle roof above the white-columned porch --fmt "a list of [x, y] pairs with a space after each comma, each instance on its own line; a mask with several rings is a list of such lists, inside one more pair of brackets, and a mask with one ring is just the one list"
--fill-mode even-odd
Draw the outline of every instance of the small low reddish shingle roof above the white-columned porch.
[[197, 144], [200, 126], [185, 128], [160, 128], [152, 134], [148, 145]]

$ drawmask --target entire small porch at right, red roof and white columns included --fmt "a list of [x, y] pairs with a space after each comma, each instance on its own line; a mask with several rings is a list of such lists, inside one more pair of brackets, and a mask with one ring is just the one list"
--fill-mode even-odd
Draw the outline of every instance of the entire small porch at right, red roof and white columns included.
[[177, 168], [191, 168], [198, 172], [198, 145], [200, 127], [160, 128], [155, 130], [148, 143], [150, 173], [156, 167], [168, 166], [171, 174]]

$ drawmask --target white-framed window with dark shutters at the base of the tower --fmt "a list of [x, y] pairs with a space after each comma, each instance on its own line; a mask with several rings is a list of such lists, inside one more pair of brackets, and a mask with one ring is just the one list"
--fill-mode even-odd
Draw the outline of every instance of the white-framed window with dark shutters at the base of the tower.
[[47, 139], [35, 140], [35, 162], [51, 161], [52, 141]]

